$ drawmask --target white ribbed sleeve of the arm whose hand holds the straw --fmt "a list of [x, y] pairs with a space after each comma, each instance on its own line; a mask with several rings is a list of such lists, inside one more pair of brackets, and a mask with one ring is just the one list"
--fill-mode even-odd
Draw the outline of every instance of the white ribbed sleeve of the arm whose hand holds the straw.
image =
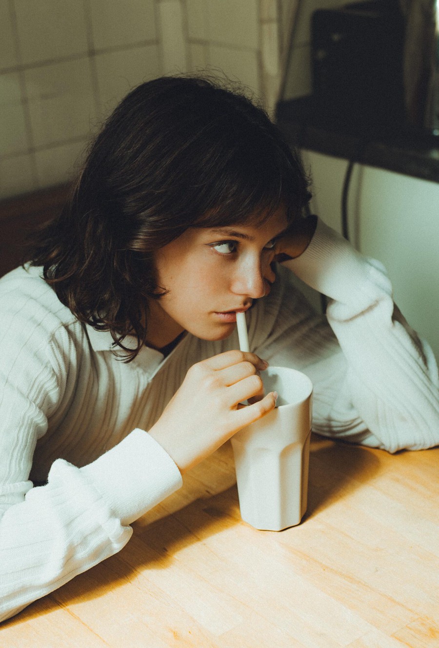
[[56, 459], [47, 484], [32, 487], [36, 441], [63, 389], [56, 367], [73, 352], [65, 330], [55, 353], [38, 322], [14, 325], [0, 338], [0, 621], [117, 553], [128, 525], [181, 486], [163, 448], [133, 430], [82, 468]]

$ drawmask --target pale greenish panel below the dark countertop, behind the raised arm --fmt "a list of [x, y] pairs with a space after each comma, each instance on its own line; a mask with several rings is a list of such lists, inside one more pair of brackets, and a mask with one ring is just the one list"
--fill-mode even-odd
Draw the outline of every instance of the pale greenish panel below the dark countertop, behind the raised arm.
[[[310, 151], [302, 156], [313, 180], [311, 209], [341, 231], [348, 161]], [[439, 362], [438, 203], [439, 183], [354, 167], [348, 202], [350, 238], [357, 249], [385, 265], [396, 303], [429, 341]], [[318, 305], [318, 299], [314, 303]]]

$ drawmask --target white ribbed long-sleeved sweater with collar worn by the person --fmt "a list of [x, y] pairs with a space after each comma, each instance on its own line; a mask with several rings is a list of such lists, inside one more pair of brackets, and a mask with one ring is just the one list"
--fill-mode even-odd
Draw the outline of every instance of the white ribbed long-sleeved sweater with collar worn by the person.
[[[280, 267], [248, 314], [249, 340], [310, 376], [313, 429], [390, 452], [437, 445], [437, 365], [394, 309], [381, 264], [319, 221], [286, 266], [331, 298], [333, 332]], [[109, 333], [78, 323], [39, 275], [0, 281], [0, 621], [119, 551], [129, 524], [180, 487], [144, 430], [190, 365], [238, 348], [236, 334], [186, 335], [166, 359], [144, 348], [118, 362]]]

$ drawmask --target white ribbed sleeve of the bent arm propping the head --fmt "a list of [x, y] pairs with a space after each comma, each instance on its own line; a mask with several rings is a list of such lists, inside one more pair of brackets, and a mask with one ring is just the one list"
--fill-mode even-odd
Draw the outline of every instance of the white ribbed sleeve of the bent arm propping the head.
[[[333, 375], [337, 415], [328, 406], [319, 432], [349, 439], [352, 430], [354, 441], [389, 452], [437, 445], [436, 360], [394, 304], [382, 264], [363, 257], [319, 220], [310, 246], [285, 265], [330, 297], [326, 316], [346, 361], [343, 372]], [[363, 432], [353, 422], [354, 411]]]

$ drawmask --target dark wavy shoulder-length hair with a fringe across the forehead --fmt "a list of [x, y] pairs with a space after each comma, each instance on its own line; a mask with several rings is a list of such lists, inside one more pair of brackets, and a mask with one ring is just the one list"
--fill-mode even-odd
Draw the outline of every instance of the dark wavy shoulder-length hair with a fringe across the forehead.
[[[205, 77], [156, 78], [107, 119], [28, 259], [129, 361], [146, 341], [148, 300], [163, 295], [157, 249], [188, 227], [262, 222], [280, 205], [293, 219], [309, 200], [297, 152], [243, 91]], [[124, 346], [127, 335], [135, 349]]]

